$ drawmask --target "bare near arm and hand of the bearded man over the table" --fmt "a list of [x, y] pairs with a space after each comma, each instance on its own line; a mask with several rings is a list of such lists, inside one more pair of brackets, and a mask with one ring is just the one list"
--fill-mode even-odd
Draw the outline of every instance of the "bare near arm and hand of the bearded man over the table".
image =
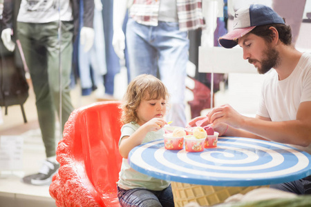
[[216, 127], [223, 123], [230, 126], [226, 136], [264, 138], [299, 146], [308, 146], [311, 143], [311, 101], [300, 103], [296, 120], [291, 121], [245, 117], [228, 105], [214, 108], [208, 116]]

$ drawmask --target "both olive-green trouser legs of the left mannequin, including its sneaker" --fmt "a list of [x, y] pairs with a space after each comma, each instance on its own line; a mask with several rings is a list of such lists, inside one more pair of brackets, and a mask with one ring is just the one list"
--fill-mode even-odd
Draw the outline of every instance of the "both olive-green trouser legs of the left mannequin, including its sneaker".
[[[37, 174], [28, 175], [22, 180], [27, 184], [48, 185], [59, 168], [55, 159], [55, 109], [59, 112], [60, 91], [62, 91], [62, 128], [73, 110], [69, 94], [73, 25], [68, 22], [62, 24], [60, 49], [57, 22], [38, 24], [19, 22], [17, 28], [32, 78], [38, 121], [46, 148], [46, 160], [42, 168]], [[59, 87], [59, 60], [62, 62], [62, 75], [60, 75], [62, 88]]]

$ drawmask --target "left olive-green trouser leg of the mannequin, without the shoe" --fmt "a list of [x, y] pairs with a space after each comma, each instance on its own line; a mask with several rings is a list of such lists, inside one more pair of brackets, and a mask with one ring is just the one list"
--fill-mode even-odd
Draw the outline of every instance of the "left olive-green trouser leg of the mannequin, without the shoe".
[[[47, 51], [40, 41], [42, 33], [33, 23], [19, 22], [17, 28], [35, 92], [38, 121], [46, 148], [46, 157], [55, 156], [55, 108], [48, 86]], [[36, 31], [37, 34], [35, 34]]]

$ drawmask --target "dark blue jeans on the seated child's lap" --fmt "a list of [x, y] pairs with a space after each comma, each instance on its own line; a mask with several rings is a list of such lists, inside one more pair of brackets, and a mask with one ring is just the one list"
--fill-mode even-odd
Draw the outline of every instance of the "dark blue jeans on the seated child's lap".
[[164, 190], [154, 191], [144, 188], [134, 188], [131, 190], [124, 190], [117, 187], [117, 197], [120, 205], [123, 207], [173, 207], [173, 193], [171, 192], [171, 185]]

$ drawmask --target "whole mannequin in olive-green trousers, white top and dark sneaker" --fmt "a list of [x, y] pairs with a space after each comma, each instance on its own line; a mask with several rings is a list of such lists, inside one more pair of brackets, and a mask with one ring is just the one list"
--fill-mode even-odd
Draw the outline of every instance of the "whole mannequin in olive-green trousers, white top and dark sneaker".
[[[46, 149], [46, 160], [39, 172], [23, 177], [22, 180], [27, 184], [48, 185], [59, 168], [55, 155], [55, 109], [62, 130], [73, 111], [69, 86], [73, 39], [79, 26], [80, 1], [32, 1], [30, 3], [21, 0], [17, 15], [17, 31], [13, 31], [12, 6], [16, 2], [4, 0], [4, 29], [1, 39], [10, 51], [15, 50], [11, 34], [17, 34], [17, 39], [21, 43], [35, 91], [38, 121]], [[83, 1], [83, 3], [84, 28], [80, 33], [80, 41], [87, 51], [92, 47], [94, 39], [94, 1]], [[60, 33], [59, 26], [62, 30]]]

